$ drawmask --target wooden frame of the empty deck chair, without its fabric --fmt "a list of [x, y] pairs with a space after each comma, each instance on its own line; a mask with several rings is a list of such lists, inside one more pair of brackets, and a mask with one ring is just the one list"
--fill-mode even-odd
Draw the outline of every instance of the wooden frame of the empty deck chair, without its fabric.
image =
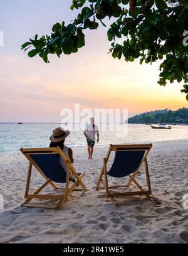
[[[145, 150], [144, 157], [143, 157], [140, 165], [138, 166], [138, 169], [135, 171], [135, 173], [128, 175], [130, 179], [128, 180], [127, 184], [120, 185], [120, 186], [108, 186], [107, 163], [108, 163], [108, 159], [110, 157], [110, 153], [112, 151], [118, 151], [118, 149], [121, 149], [121, 148], [123, 148], [123, 151], [130, 151], [131, 148], [135, 148], [135, 147], [137, 149], [133, 149], [133, 151], [143, 150], [143, 148], [148, 147], [148, 149]], [[106, 197], [110, 198], [112, 203], [115, 205], [117, 205], [117, 203], [115, 201], [115, 197], [145, 195], [145, 196], [147, 196], [147, 198], [150, 198], [150, 195], [152, 195], [152, 189], [151, 189], [151, 185], [150, 185], [150, 176], [149, 176], [149, 167], [148, 167], [148, 163], [147, 163], [147, 155], [149, 154], [151, 149], [152, 149], [152, 144], [130, 144], [130, 145], [127, 145], [127, 144], [126, 145], [112, 145], [112, 144], [110, 144], [110, 147], [108, 148], [108, 151], [107, 151], [107, 156], [105, 158], [103, 158], [103, 168], [102, 168], [102, 171], [99, 172], [96, 189], [98, 190], [98, 189], [105, 188]], [[143, 189], [142, 186], [140, 186], [138, 181], [136, 181], [136, 179], [135, 179], [135, 176], [138, 174], [138, 171], [140, 171], [140, 168], [143, 163], [145, 165], [145, 175], [146, 175], [146, 179], [147, 179], [147, 190]], [[102, 179], [103, 176], [104, 176], [105, 181], [103, 181], [103, 179]], [[100, 187], [100, 183], [103, 184], [103, 187]], [[139, 190], [138, 191], [128, 191], [128, 192], [117, 192], [117, 193], [112, 193], [110, 191], [110, 188], [120, 188], [120, 187], [129, 188], [131, 183], [135, 183], [135, 185], [137, 186], [137, 188]]]

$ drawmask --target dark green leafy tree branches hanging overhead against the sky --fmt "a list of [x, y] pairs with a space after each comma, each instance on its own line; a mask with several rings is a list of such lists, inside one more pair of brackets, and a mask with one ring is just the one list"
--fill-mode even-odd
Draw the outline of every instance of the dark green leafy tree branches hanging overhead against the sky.
[[[161, 60], [158, 83], [184, 82], [181, 90], [188, 100], [188, 1], [187, 0], [73, 0], [71, 9], [80, 13], [70, 24], [56, 23], [51, 35], [38, 35], [22, 45], [29, 57], [70, 55], [85, 46], [85, 29], [106, 26], [112, 18], [108, 40], [113, 58], [140, 59], [150, 63]], [[122, 38], [121, 40], [118, 40]], [[119, 43], [122, 41], [123, 43]], [[184, 42], [184, 43], [183, 43]], [[31, 48], [32, 47], [32, 48]]]

